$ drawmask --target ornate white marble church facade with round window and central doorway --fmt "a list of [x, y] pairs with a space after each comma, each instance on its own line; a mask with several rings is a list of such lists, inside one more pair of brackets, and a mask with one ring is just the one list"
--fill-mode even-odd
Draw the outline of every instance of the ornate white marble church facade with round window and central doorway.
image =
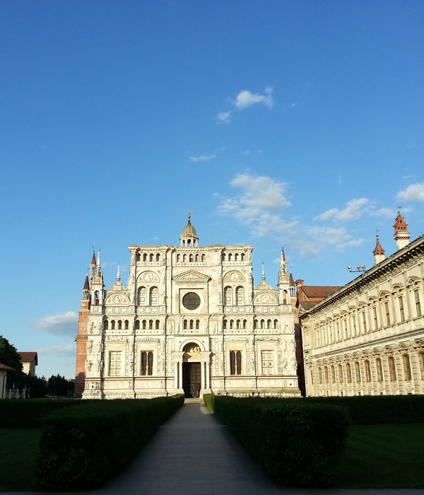
[[284, 253], [278, 289], [252, 279], [251, 245], [131, 245], [126, 286], [104, 290], [93, 255], [78, 320], [76, 396], [182, 393], [298, 396], [293, 306]]

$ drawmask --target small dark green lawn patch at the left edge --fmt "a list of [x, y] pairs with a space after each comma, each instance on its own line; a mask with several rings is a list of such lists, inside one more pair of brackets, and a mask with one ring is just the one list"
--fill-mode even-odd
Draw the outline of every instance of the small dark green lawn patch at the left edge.
[[0, 491], [31, 489], [40, 436], [40, 429], [0, 429]]

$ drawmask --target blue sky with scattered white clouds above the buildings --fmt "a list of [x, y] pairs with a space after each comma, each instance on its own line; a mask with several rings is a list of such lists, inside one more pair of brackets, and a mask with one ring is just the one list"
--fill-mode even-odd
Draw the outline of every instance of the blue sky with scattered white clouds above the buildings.
[[0, 0], [0, 334], [74, 375], [93, 247], [254, 245], [343, 285], [423, 233], [423, 1]]

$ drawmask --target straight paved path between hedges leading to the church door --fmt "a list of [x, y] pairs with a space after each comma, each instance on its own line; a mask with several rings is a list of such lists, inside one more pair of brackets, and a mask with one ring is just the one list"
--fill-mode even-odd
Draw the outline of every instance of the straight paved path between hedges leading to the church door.
[[119, 477], [96, 493], [281, 495], [201, 403], [184, 406]]

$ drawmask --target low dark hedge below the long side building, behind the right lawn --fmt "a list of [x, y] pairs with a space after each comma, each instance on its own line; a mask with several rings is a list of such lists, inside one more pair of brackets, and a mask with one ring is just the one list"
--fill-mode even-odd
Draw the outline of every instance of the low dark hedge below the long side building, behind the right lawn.
[[345, 407], [351, 424], [413, 424], [424, 422], [424, 395], [308, 397], [310, 404]]

